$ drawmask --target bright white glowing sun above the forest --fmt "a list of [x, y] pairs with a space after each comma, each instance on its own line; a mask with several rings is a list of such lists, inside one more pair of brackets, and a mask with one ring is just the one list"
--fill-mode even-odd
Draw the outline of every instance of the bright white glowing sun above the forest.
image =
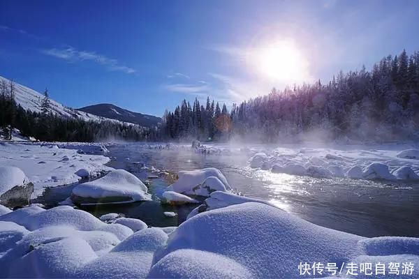
[[256, 47], [251, 56], [253, 67], [269, 80], [302, 82], [308, 77], [307, 59], [291, 40], [279, 40]]

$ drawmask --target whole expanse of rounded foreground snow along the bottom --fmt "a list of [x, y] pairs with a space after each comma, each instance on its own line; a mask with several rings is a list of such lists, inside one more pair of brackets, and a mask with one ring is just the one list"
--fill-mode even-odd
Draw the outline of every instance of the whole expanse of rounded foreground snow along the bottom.
[[221, 191], [205, 204], [209, 211], [163, 228], [106, 224], [70, 206], [6, 213], [0, 278], [297, 278], [300, 262], [419, 264], [419, 239], [338, 232]]

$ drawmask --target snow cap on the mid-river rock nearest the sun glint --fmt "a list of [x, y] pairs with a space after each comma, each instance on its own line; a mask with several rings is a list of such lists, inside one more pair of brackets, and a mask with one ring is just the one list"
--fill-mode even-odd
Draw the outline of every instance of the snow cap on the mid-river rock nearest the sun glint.
[[[179, 172], [179, 179], [168, 187], [168, 190], [185, 195], [196, 195], [194, 188], [200, 186], [208, 177], [214, 176], [223, 183], [226, 190], [230, 190], [230, 185], [226, 177], [215, 167], [207, 167], [206, 169], [195, 169], [191, 171]], [[214, 182], [214, 181], [212, 181]], [[210, 183], [212, 183], [210, 181]], [[218, 186], [217, 186], [218, 187]], [[199, 187], [197, 188], [199, 189]]]

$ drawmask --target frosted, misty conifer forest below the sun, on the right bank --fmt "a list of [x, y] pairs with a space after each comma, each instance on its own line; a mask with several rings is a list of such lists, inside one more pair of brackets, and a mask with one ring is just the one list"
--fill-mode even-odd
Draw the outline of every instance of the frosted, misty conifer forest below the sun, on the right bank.
[[[272, 89], [230, 112], [186, 100], [163, 116], [163, 136], [200, 140], [391, 141], [419, 138], [419, 52], [386, 56], [371, 71], [340, 72], [330, 82]], [[226, 117], [228, 116], [228, 117]], [[218, 122], [218, 123], [217, 123]]]

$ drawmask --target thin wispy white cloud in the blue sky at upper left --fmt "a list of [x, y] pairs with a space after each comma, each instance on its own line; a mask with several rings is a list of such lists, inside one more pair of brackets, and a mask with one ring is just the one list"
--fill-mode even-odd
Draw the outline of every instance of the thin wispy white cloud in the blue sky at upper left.
[[52, 48], [41, 50], [41, 52], [43, 54], [54, 56], [70, 62], [94, 61], [101, 66], [105, 66], [105, 68], [111, 71], [119, 71], [126, 74], [133, 74], [136, 72], [136, 70], [133, 68], [119, 64], [117, 59], [111, 59], [107, 56], [97, 54], [96, 52], [76, 50], [74, 47], [66, 47], [61, 49]]

